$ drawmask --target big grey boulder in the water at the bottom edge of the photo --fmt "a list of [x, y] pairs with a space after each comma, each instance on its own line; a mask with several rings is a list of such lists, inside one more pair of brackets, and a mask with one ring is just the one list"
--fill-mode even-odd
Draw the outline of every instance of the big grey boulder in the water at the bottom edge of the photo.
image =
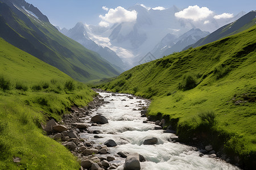
[[125, 159], [123, 170], [139, 170], [141, 169], [141, 163], [139, 163], [139, 154], [129, 154]]

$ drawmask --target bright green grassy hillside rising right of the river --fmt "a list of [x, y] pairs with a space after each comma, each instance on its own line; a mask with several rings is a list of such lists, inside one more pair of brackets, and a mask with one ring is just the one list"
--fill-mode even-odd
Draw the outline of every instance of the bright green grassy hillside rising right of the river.
[[[209, 130], [223, 140], [226, 151], [245, 162], [252, 161], [256, 156], [255, 40], [256, 25], [208, 45], [136, 66], [102, 88], [151, 97], [149, 115], [169, 115], [180, 138], [200, 138], [201, 132]], [[198, 85], [183, 91], [178, 87], [187, 74], [194, 76]], [[199, 114], [207, 112], [217, 116], [214, 125], [205, 127]]]

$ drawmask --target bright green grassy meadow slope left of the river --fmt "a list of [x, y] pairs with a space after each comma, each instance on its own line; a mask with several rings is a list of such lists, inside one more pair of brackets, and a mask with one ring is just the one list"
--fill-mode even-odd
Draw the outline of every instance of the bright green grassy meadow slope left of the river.
[[[40, 122], [60, 120], [71, 105], [86, 105], [94, 92], [1, 38], [0, 46], [0, 79], [10, 80], [10, 90], [0, 88], [0, 169], [79, 169], [71, 152], [43, 135]], [[67, 80], [74, 90], [65, 89]], [[42, 90], [32, 90], [35, 86]], [[13, 163], [13, 157], [21, 162]]]

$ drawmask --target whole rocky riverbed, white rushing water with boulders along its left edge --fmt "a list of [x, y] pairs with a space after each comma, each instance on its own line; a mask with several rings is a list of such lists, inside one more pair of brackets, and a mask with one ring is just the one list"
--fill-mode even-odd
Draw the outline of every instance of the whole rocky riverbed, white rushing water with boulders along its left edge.
[[88, 107], [72, 107], [63, 120], [47, 122], [49, 137], [81, 161], [81, 169], [238, 169], [216, 159], [211, 145], [179, 143], [164, 120], [148, 121], [150, 100], [97, 90]]

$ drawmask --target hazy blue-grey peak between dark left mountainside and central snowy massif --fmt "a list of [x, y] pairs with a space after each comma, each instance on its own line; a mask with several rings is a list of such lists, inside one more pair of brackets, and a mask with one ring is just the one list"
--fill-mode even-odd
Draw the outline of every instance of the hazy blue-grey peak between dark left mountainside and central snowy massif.
[[90, 40], [87, 32], [86, 32], [86, 25], [82, 23], [77, 23], [75, 27], [72, 29], [59, 29], [61, 33], [64, 35], [70, 37], [71, 39], [79, 42], [81, 45], [85, 46], [85, 48], [93, 50], [94, 52], [97, 52], [101, 55], [102, 58], [105, 58], [107, 61], [112, 63], [112, 65], [118, 69], [119, 71], [123, 72], [122, 69], [125, 67], [123, 61], [121, 58], [115, 54], [115, 52], [108, 47], [102, 47], [100, 45], [97, 45], [94, 41]]

